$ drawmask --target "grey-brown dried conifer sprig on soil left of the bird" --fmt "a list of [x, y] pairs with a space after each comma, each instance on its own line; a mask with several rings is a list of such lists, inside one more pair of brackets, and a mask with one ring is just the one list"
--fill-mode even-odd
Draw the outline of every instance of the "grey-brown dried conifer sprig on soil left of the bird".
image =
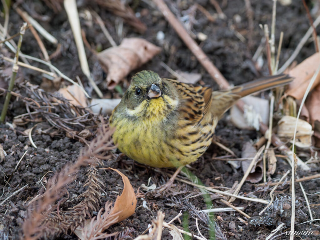
[[[12, 95], [20, 97], [28, 111], [28, 114], [14, 118], [14, 123], [17, 125], [40, 119], [48, 122], [55, 129], [65, 132], [68, 137], [86, 143], [85, 139], [93, 136], [102, 123], [101, 118], [93, 114], [89, 108], [75, 106], [58, 93], [45, 92], [39, 86], [28, 82], [18, 84], [16, 88], [17, 91]], [[52, 130], [44, 132], [55, 134]]]

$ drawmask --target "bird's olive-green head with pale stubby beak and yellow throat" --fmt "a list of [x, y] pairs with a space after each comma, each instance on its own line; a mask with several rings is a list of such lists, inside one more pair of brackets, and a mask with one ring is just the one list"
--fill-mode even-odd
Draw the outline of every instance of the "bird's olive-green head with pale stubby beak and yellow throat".
[[141, 71], [132, 76], [121, 104], [130, 116], [159, 116], [170, 113], [178, 106], [174, 87], [153, 71]]

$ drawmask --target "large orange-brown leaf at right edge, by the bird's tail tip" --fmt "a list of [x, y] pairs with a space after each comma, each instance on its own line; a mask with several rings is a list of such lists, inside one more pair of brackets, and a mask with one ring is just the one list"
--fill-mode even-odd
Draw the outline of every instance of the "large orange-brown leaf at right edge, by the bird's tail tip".
[[[292, 70], [287, 71], [290, 76], [294, 77], [293, 81], [289, 84], [289, 89], [285, 92], [285, 95], [292, 96], [295, 99], [302, 99], [304, 93], [307, 90], [308, 84], [315, 74], [317, 67], [319, 66], [320, 53], [317, 52], [308, 57]], [[320, 83], [320, 74], [316, 77], [312, 88]]]

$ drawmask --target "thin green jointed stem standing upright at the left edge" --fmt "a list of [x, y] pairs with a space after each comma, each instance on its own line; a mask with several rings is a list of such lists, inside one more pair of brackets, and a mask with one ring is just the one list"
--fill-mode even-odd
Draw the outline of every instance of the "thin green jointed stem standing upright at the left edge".
[[16, 55], [14, 56], [14, 63], [12, 66], [12, 76], [10, 78], [8, 92], [5, 96], [4, 105], [3, 105], [3, 108], [1, 111], [1, 116], [0, 116], [1, 123], [4, 122], [5, 116], [7, 115], [7, 110], [8, 110], [8, 106], [9, 106], [9, 102], [10, 102], [10, 98], [11, 98], [11, 91], [13, 89], [14, 81], [16, 80], [16, 76], [17, 76], [17, 73], [19, 70], [19, 66], [18, 66], [19, 52], [20, 52], [20, 48], [21, 48], [21, 44], [22, 44], [23, 35], [26, 32], [26, 28], [27, 28], [27, 23], [25, 22], [22, 25], [22, 27], [20, 28], [20, 38], [19, 38], [19, 42], [18, 42], [18, 46], [17, 46]]

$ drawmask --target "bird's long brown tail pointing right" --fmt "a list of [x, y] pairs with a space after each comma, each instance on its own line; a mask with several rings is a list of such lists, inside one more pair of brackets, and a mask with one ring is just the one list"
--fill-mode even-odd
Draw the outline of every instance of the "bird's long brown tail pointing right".
[[289, 84], [293, 78], [286, 74], [262, 77], [257, 80], [235, 86], [228, 90], [212, 92], [211, 111], [216, 116], [222, 116], [238, 99], [255, 92]]

